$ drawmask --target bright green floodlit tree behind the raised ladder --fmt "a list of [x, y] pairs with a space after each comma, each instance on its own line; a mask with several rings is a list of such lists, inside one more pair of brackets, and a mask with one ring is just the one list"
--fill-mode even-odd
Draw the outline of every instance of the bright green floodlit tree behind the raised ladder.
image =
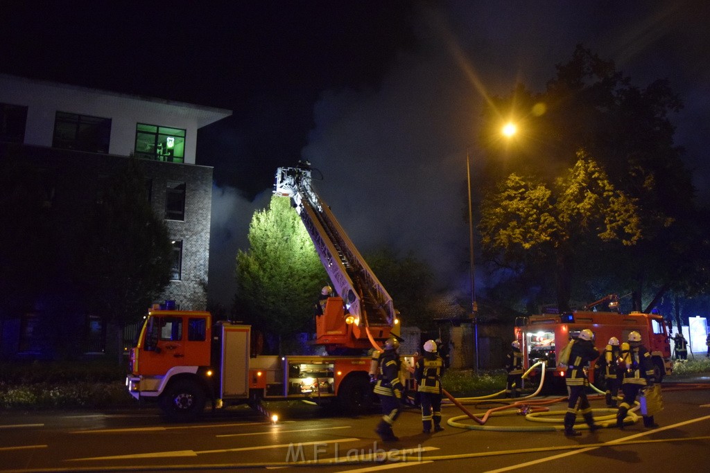
[[315, 247], [289, 199], [254, 212], [249, 250], [236, 255], [237, 306], [255, 328], [278, 335], [313, 331], [313, 304], [328, 284]]

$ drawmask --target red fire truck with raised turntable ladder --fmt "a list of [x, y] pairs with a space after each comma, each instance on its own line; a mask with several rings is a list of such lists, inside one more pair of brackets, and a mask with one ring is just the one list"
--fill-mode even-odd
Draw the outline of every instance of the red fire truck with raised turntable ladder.
[[399, 334], [393, 301], [311, 185], [305, 163], [279, 168], [274, 194], [292, 199], [337, 296], [317, 316], [315, 345], [329, 355], [251, 352], [251, 327], [212, 320], [208, 312], [154, 308], [130, 352], [126, 386], [158, 401], [168, 416], [191, 418], [212, 406], [261, 399], [337, 399], [359, 411], [371, 403], [366, 350]]

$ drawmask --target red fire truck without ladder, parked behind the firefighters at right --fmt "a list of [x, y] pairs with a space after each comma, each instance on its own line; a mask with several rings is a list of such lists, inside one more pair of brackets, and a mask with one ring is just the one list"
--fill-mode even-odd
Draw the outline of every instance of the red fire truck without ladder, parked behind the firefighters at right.
[[[657, 382], [672, 372], [670, 338], [662, 316], [588, 310], [517, 318], [515, 340], [523, 351], [525, 369], [540, 360], [547, 360], [545, 379], [551, 379], [555, 386], [563, 386], [567, 367], [558, 366], [557, 357], [569, 340], [576, 338], [584, 328], [594, 333], [594, 345], [599, 352], [603, 352], [611, 337], [623, 343], [628, 334], [635, 330], [641, 334], [643, 345], [651, 354]], [[594, 363], [589, 374], [590, 381], [594, 383]], [[536, 374], [531, 375], [535, 379]]]

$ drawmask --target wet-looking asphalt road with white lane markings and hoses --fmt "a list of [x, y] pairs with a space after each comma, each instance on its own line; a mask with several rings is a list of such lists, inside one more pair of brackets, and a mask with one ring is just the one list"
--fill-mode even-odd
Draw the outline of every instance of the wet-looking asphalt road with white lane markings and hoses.
[[[707, 382], [707, 380], [705, 380]], [[373, 429], [376, 413], [342, 416], [306, 404], [272, 403], [276, 424], [247, 408], [227, 408], [195, 423], [168, 423], [154, 408], [120, 412], [3, 412], [0, 472], [265, 471], [318, 472], [706, 471], [710, 462], [710, 384], [702, 389], [664, 383], [659, 428], [640, 421], [621, 431], [582, 430], [562, 435], [566, 404], [530, 421], [490, 416], [481, 426], [455, 406], [443, 409], [446, 430], [421, 433], [420, 413], [405, 410], [395, 425], [400, 437], [383, 444]], [[539, 399], [539, 398], [538, 398]], [[550, 399], [550, 398], [547, 398]], [[529, 404], [529, 403], [523, 403]], [[496, 402], [465, 404], [479, 418]], [[603, 400], [593, 399], [603, 423]], [[613, 416], [613, 415], [612, 415]], [[613, 421], [611, 421], [613, 423]], [[299, 464], [300, 462], [300, 464]], [[334, 464], [333, 462], [339, 462]]]

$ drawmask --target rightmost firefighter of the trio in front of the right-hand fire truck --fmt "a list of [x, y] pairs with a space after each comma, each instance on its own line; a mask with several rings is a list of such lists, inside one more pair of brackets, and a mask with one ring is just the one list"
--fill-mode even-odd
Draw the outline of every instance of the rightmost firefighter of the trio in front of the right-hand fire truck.
[[[628, 343], [621, 345], [621, 363], [624, 369], [621, 391], [623, 401], [619, 403], [616, 414], [616, 426], [623, 430], [623, 421], [626, 413], [636, 396], [645, 386], [652, 387], [654, 382], [653, 362], [648, 349], [641, 345], [641, 334], [633, 331], [628, 334]], [[653, 416], [643, 416], [643, 426], [646, 428], [658, 427]]]

